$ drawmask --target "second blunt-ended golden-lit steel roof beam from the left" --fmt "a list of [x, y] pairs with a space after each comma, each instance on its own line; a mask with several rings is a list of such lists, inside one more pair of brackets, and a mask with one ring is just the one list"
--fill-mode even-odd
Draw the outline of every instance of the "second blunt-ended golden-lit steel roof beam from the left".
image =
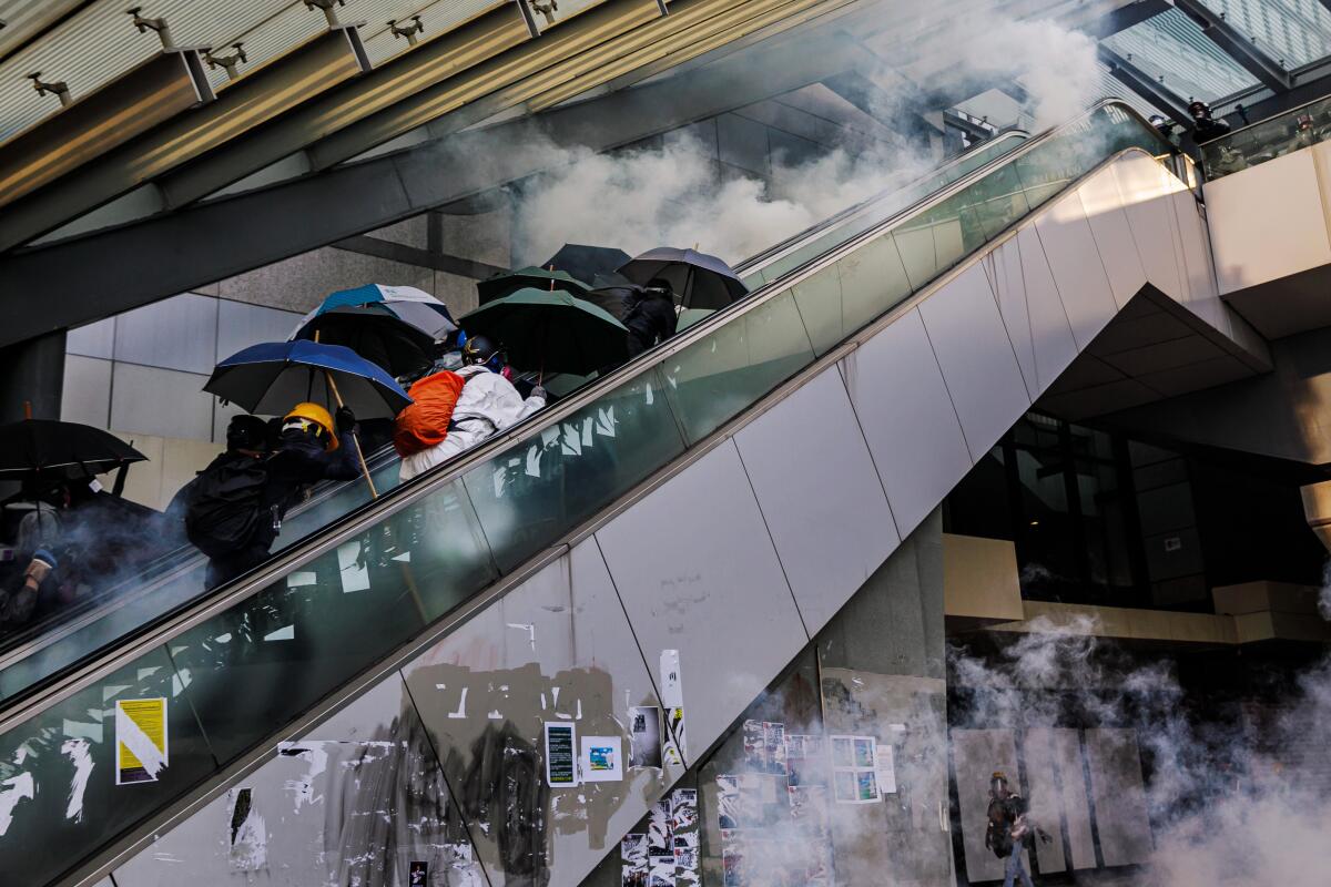
[[[218, 90], [216, 101], [170, 117], [142, 137], [97, 158], [97, 162], [67, 168], [65, 174], [8, 206], [0, 214], [0, 251], [28, 243], [194, 157], [216, 150], [366, 69], [355, 28], [345, 25], [327, 31], [281, 59], [228, 82]], [[0, 156], [3, 153], [0, 150]]]

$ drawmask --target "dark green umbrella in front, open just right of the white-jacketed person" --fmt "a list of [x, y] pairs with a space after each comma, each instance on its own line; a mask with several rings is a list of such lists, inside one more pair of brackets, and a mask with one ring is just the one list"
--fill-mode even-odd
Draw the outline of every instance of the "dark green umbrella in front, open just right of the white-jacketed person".
[[522, 370], [590, 375], [628, 359], [628, 330], [563, 290], [524, 287], [459, 320], [467, 335], [498, 343]]

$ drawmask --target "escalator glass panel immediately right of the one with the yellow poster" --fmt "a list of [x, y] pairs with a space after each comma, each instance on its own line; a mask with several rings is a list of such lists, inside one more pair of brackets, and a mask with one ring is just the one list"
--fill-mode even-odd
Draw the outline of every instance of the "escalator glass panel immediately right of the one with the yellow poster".
[[172, 641], [228, 761], [496, 578], [459, 481]]

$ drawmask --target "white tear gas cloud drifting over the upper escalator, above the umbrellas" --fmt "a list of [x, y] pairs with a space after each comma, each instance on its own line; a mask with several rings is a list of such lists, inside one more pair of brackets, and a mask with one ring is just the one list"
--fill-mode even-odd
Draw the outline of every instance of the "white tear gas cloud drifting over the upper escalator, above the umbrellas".
[[[932, 37], [954, 52], [942, 70], [921, 73], [930, 90], [1014, 80], [1028, 93], [1037, 129], [1066, 121], [1099, 98], [1095, 45], [1086, 35], [1051, 21], [1012, 21], [993, 11], [968, 15], [964, 25], [950, 28], [957, 33]], [[660, 148], [616, 154], [542, 146], [552, 172], [519, 189], [516, 263], [540, 262], [566, 241], [631, 254], [697, 243], [737, 263], [858, 201], [906, 185], [940, 160], [889, 132], [920, 86], [886, 68], [858, 73], [878, 86], [870, 110], [885, 125], [872, 137], [847, 130], [844, 144], [825, 146], [816, 160], [773, 157], [769, 181], [735, 166], [723, 173], [708, 156], [712, 148], [680, 133]]]

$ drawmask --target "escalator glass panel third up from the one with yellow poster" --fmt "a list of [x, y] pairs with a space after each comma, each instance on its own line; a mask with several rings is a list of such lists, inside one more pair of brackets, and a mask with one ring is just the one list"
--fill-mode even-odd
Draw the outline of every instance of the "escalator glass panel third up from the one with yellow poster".
[[787, 290], [668, 358], [666, 384], [697, 443], [811, 363], [813, 346]]

